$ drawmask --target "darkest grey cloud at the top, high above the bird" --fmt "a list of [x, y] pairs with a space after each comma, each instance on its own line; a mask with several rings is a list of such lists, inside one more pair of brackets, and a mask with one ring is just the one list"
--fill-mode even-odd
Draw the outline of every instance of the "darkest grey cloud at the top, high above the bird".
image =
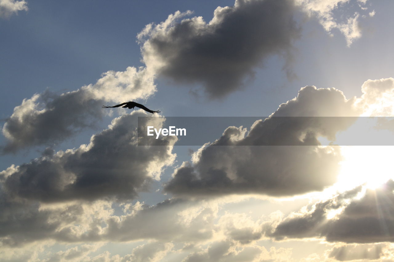
[[209, 23], [202, 17], [177, 23], [190, 14], [178, 11], [138, 35], [143, 61], [177, 82], [203, 83], [212, 98], [225, 96], [269, 55], [288, 58], [300, 34], [294, 11], [290, 0], [237, 0], [233, 7], [217, 7]]

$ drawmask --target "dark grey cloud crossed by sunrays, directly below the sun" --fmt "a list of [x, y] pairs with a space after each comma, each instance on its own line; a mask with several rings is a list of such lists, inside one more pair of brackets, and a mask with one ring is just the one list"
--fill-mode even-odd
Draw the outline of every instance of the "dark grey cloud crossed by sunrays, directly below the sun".
[[[382, 188], [367, 189], [360, 199], [354, 192], [340, 194], [325, 202], [316, 203], [309, 212], [285, 218], [266, 235], [275, 239], [323, 237], [329, 242], [376, 243], [394, 241], [394, 181]], [[351, 193], [351, 194], [349, 194]], [[348, 194], [348, 195], [346, 195]], [[348, 199], [347, 202], [342, 201]], [[348, 203], [350, 202], [350, 203]], [[330, 211], [343, 208], [335, 219], [328, 219]]]

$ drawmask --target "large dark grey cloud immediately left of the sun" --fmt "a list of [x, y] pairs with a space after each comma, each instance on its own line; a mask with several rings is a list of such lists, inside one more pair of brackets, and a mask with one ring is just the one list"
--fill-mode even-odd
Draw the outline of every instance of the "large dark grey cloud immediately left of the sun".
[[[338, 147], [319, 147], [318, 138], [334, 139], [353, 120], [275, 116], [350, 116], [353, 102], [336, 89], [305, 87], [273, 117], [255, 122], [246, 137], [242, 127], [228, 127], [195, 153], [193, 165], [178, 168], [165, 190], [185, 196], [292, 196], [323, 190], [335, 183], [341, 156]], [[286, 146], [253, 146], [264, 144]]]

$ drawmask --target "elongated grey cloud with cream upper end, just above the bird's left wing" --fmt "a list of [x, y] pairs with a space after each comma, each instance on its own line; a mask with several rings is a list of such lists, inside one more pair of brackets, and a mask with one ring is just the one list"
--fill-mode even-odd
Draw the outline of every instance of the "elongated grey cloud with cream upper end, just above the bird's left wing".
[[108, 101], [145, 99], [156, 91], [146, 68], [128, 67], [123, 72], [108, 71], [94, 85], [61, 95], [45, 91], [24, 99], [3, 126], [8, 143], [4, 153], [37, 145], [50, 145], [95, 125], [106, 112]]

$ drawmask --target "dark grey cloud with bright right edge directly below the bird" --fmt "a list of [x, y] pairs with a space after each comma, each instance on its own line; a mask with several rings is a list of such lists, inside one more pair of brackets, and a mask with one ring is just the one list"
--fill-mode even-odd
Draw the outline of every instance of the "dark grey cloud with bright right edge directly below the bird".
[[[176, 141], [174, 137], [152, 138], [152, 145], [167, 146], [138, 147], [138, 116], [147, 114], [134, 112], [115, 118], [112, 126], [94, 135], [88, 145], [47, 153], [22, 164], [5, 178], [6, 193], [43, 202], [136, 197], [173, 162], [175, 155], [167, 146]], [[158, 126], [164, 121], [147, 119], [147, 124]]]

